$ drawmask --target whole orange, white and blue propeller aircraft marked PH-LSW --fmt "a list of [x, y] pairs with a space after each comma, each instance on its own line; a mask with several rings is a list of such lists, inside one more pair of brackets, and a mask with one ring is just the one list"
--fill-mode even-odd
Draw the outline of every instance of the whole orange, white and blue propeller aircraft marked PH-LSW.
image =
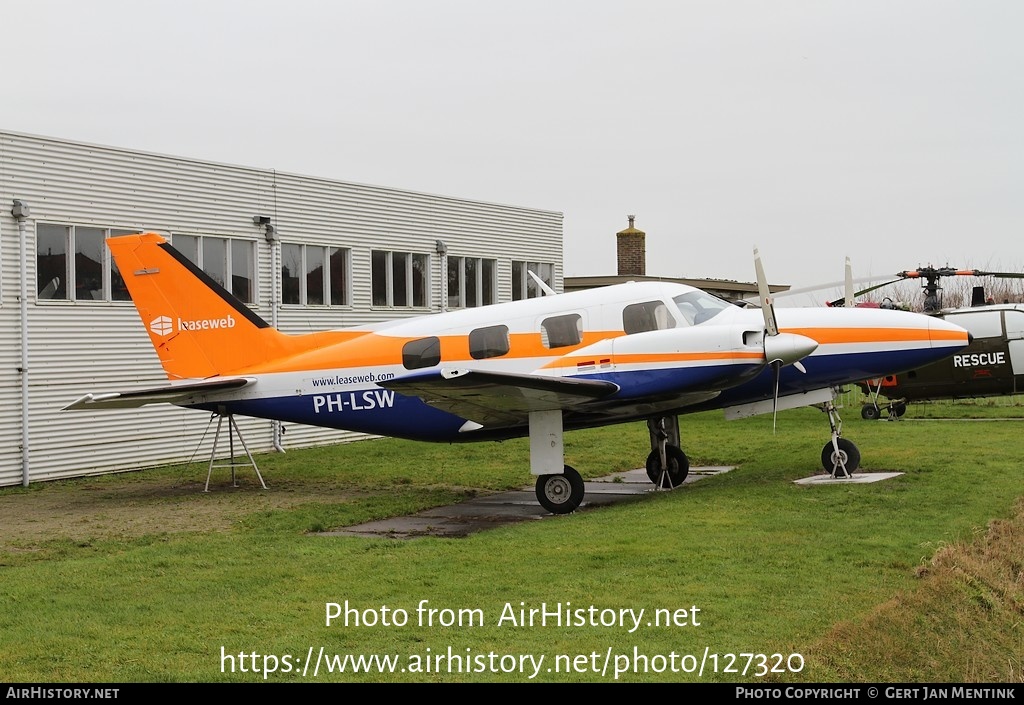
[[562, 433], [646, 419], [647, 472], [675, 487], [689, 469], [678, 414], [730, 417], [808, 404], [829, 412], [822, 463], [856, 469], [834, 387], [921, 367], [969, 342], [964, 329], [905, 312], [762, 309], [681, 284], [630, 283], [369, 327], [287, 335], [159, 235], [108, 240], [168, 385], [86, 395], [68, 409], [171, 403], [420, 441], [528, 436], [537, 496], [555, 513], [584, 498]]

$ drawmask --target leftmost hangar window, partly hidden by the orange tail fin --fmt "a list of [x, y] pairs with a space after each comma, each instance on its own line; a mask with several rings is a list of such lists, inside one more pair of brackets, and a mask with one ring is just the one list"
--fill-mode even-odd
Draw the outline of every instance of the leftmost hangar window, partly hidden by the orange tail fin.
[[130, 300], [124, 279], [106, 247], [106, 239], [137, 232], [45, 222], [37, 224], [37, 299]]

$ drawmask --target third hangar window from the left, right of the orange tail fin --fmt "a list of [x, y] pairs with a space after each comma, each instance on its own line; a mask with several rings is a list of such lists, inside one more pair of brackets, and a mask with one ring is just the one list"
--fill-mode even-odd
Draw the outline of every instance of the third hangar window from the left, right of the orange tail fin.
[[348, 305], [349, 251], [318, 245], [281, 246], [281, 302]]

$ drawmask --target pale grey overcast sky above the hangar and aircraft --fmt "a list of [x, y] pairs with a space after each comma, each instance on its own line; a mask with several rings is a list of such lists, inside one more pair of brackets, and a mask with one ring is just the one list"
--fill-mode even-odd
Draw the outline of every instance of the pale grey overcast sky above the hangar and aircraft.
[[1024, 269], [1017, 0], [0, 0], [0, 129], [559, 211], [565, 273]]

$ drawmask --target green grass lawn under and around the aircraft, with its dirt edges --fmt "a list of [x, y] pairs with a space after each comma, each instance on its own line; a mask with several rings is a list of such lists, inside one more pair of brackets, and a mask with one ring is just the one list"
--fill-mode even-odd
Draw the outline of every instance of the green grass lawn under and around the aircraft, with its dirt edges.
[[[936, 420], [933, 406], [901, 422], [846, 410], [862, 467], [895, 480], [794, 485], [820, 471], [814, 409], [780, 413], [775, 434], [770, 416], [695, 414], [681, 418], [691, 462], [735, 470], [464, 539], [315, 532], [529, 485], [525, 441], [260, 456], [266, 492], [250, 479], [203, 494], [202, 465], [2, 489], [0, 672], [1020, 682], [1024, 420]], [[566, 437], [585, 476], [647, 450], [642, 424]]]

